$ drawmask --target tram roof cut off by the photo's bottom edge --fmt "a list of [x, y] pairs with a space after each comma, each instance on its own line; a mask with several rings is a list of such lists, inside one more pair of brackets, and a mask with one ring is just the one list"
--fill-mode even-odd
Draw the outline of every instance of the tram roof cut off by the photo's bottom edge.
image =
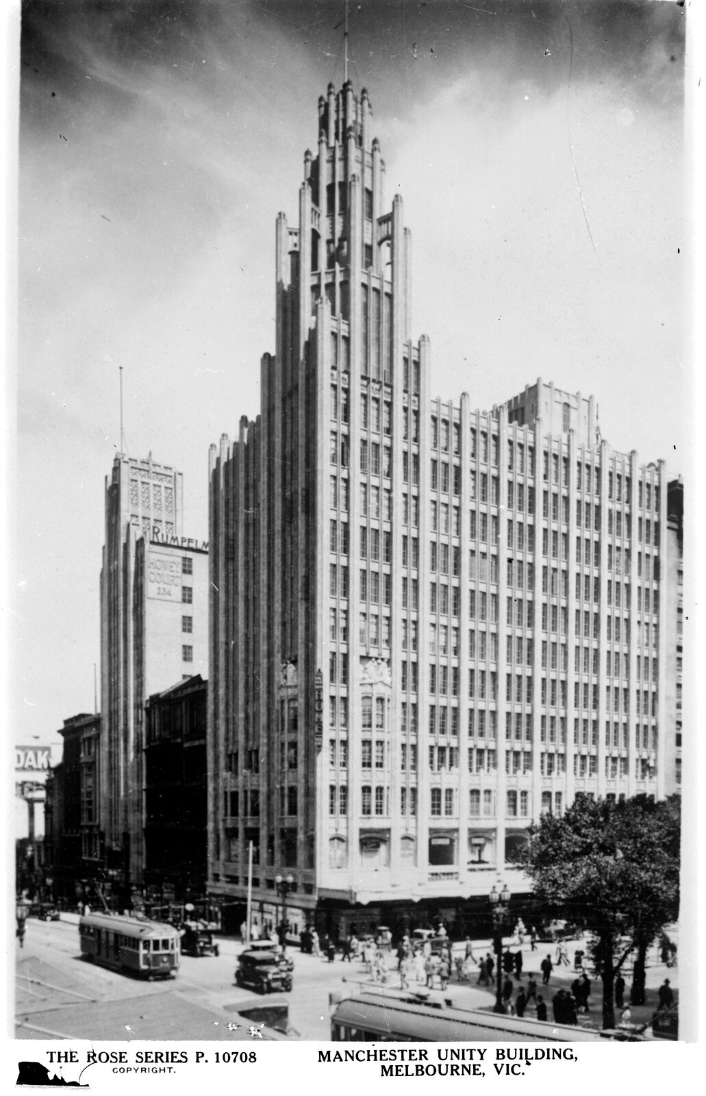
[[339, 1002], [333, 1042], [595, 1042], [600, 1031], [369, 991]]

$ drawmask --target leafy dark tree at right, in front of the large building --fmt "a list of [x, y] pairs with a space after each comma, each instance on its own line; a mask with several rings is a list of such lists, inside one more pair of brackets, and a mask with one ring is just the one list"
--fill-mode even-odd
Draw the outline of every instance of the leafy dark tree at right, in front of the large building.
[[603, 1027], [615, 1027], [615, 975], [637, 948], [635, 978], [645, 993], [647, 948], [679, 915], [680, 806], [647, 796], [615, 803], [577, 796], [561, 817], [530, 827], [516, 863], [537, 898], [581, 917], [595, 936], [603, 982]]

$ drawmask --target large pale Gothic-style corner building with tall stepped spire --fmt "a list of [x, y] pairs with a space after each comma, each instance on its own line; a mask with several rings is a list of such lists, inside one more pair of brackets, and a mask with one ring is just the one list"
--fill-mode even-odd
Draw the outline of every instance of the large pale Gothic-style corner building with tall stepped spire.
[[[276, 224], [261, 413], [210, 452], [209, 890], [345, 931], [487, 906], [542, 811], [665, 785], [663, 464], [542, 379], [431, 398], [367, 93]], [[298, 920], [297, 920], [298, 918]]]

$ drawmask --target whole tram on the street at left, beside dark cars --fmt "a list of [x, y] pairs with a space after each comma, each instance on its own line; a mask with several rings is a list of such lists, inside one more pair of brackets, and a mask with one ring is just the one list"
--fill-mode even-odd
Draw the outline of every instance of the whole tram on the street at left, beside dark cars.
[[79, 922], [81, 955], [125, 973], [170, 978], [179, 969], [179, 929], [159, 921], [89, 913]]

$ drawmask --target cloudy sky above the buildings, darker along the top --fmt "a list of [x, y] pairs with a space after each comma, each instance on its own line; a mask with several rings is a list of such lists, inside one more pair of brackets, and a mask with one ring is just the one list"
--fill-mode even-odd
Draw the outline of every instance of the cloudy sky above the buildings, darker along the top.
[[[684, 9], [350, 2], [412, 233], [432, 392], [490, 408], [537, 376], [593, 393], [603, 437], [684, 471]], [[14, 741], [93, 709], [104, 477], [184, 473], [259, 410], [275, 218], [295, 220], [343, 3], [33, 0], [22, 8], [12, 655]], [[100, 674], [99, 674], [100, 678]]]

